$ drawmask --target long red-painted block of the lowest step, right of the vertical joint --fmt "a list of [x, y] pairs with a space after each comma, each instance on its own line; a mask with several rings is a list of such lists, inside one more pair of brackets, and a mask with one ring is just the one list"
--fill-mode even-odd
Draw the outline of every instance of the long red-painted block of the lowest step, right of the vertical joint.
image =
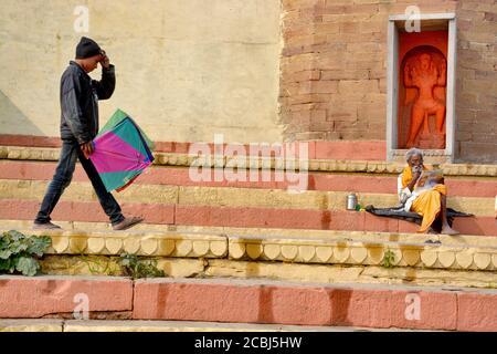
[[[458, 312], [458, 301], [469, 295], [473, 312]], [[159, 280], [135, 283], [133, 316], [135, 320], [497, 331], [496, 301], [497, 292]]]

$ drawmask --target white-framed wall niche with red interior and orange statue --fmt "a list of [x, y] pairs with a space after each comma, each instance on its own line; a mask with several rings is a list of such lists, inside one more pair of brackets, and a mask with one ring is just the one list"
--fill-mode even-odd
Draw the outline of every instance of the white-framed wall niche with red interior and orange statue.
[[[408, 17], [389, 18], [387, 152], [403, 162], [410, 147], [427, 163], [454, 162], [456, 19], [420, 14], [421, 31]], [[410, 20], [411, 21], [411, 20]]]

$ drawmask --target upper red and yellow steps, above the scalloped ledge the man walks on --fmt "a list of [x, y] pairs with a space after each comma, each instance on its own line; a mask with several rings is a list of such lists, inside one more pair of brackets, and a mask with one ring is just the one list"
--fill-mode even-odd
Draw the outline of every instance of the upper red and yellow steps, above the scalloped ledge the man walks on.
[[[3, 153], [1, 153], [3, 152]], [[0, 219], [31, 220], [52, 178], [57, 148], [0, 147]], [[412, 222], [346, 210], [347, 195], [356, 191], [363, 206], [396, 205], [396, 174], [403, 166], [384, 162], [315, 160], [309, 163], [304, 192], [289, 192], [287, 179], [267, 181], [194, 181], [192, 156], [157, 154], [157, 164], [117, 198], [128, 214], [148, 223], [203, 227], [288, 228], [413, 232]], [[221, 166], [225, 166], [223, 160]], [[493, 165], [444, 165], [448, 206], [474, 214], [456, 218], [462, 233], [497, 236]], [[214, 169], [210, 170], [215, 177]], [[250, 173], [246, 171], [248, 176]], [[261, 176], [260, 176], [261, 177]], [[73, 184], [53, 218], [63, 221], [106, 221], [86, 176], [76, 168]]]

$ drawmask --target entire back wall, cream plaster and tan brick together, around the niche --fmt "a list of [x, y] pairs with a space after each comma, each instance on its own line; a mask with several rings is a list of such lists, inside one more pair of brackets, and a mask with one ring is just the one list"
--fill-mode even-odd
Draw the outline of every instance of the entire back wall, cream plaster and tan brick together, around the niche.
[[415, 4], [457, 17], [457, 160], [497, 162], [495, 0], [85, 3], [88, 33], [74, 31], [80, 1], [2, 2], [0, 135], [59, 135], [60, 75], [86, 34], [117, 67], [103, 121], [120, 107], [155, 140], [212, 142], [223, 133], [225, 142], [383, 148], [388, 18]]

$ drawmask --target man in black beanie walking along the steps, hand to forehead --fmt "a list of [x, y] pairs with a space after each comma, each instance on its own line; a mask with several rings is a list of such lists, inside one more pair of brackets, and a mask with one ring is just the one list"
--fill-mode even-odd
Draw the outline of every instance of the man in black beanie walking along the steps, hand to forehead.
[[[102, 66], [102, 81], [88, 76], [98, 63]], [[105, 189], [98, 173], [88, 159], [93, 153], [92, 140], [98, 132], [98, 100], [109, 98], [115, 86], [114, 65], [95, 41], [83, 37], [76, 46], [75, 61], [70, 62], [61, 79], [61, 156], [33, 229], [60, 229], [51, 222], [50, 215], [64, 189], [71, 184], [76, 158], [92, 181], [98, 201], [109, 217], [114, 230], [126, 230], [144, 220], [123, 216], [116, 199]]]

